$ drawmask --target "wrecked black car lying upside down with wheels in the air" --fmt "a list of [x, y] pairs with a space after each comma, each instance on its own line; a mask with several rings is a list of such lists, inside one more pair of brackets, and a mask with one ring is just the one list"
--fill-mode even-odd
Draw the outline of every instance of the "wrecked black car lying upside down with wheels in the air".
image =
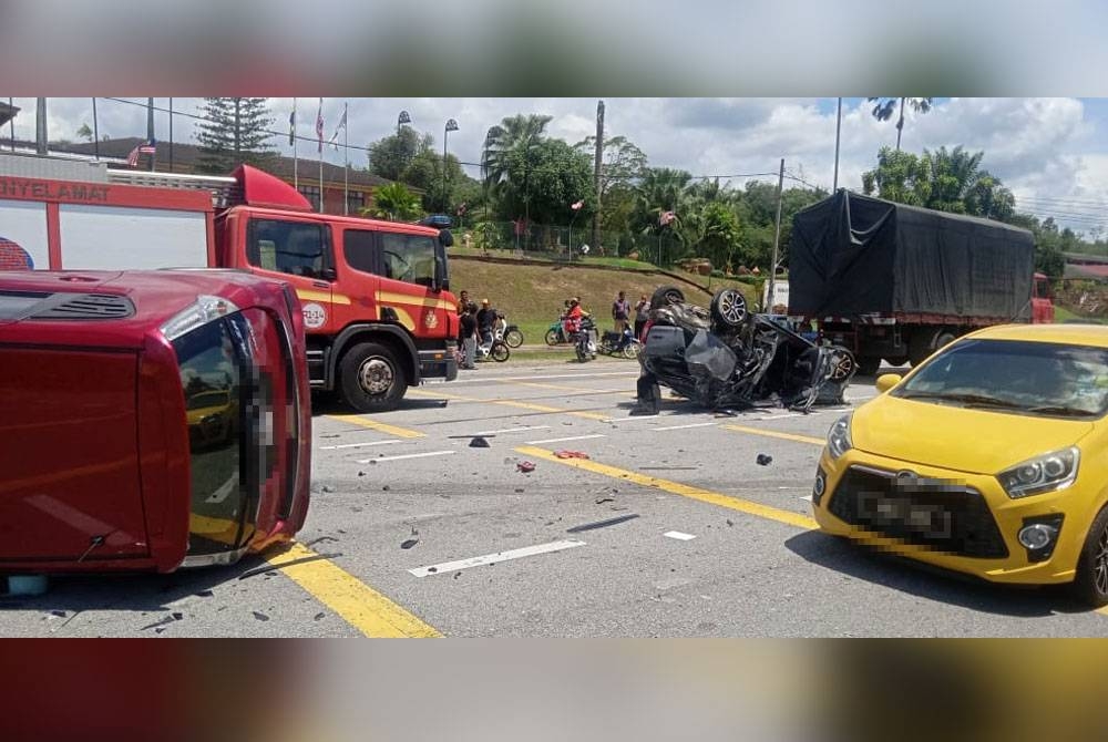
[[705, 310], [680, 289], [659, 288], [639, 353], [637, 414], [657, 412], [657, 385], [708, 409], [842, 404], [854, 357], [792, 331], [783, 318], [747, 311], [742, 293], [722, 289]]

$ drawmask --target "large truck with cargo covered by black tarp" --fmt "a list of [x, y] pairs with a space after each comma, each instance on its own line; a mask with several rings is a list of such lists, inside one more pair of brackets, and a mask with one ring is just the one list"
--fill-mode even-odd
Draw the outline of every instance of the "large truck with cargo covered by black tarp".
[[848, 190], [792, 224], [789, 316], [852, 350], [861, 373], [978, 327], [1054, 320], [1026, 229]]

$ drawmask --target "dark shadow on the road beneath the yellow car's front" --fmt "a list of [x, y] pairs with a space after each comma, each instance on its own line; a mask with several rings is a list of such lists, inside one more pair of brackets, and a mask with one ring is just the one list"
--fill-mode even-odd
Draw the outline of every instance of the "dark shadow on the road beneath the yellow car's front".
[[1089, 610], [1060, 586], [996, 585], [817, 530], [793, 536], [784, 545], [811, 564], [855, 579], [985, 614], [1035, 618]]

